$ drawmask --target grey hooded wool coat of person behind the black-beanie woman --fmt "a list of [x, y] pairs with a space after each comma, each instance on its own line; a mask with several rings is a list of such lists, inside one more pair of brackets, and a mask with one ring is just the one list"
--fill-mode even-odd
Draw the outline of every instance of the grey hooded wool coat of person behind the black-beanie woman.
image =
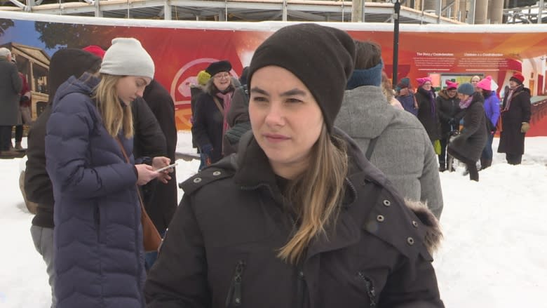
[[377, 166], [405, 199], [423, 201], [440, 217], [443, 192], [431, 140], [420, 121], [386, 101], [381, 88], [360, 86], [344, 93], [335, 126], [367, 152], [378, 138], [370, 162]]

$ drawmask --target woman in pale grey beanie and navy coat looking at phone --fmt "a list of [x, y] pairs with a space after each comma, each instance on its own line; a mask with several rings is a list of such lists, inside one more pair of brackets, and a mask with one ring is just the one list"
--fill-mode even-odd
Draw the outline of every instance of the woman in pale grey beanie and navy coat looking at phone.
[[[133, 159], [130, 104], [154, 77], [136, 39], [118, 38], [100, 78], [72, 76], [57, 90], [46, 128], [53, 184], [57, 308], [144, 307], [144, 252], [137, 186], [159, 178]], [[129, 161], [128, 161], [129, 160]]]

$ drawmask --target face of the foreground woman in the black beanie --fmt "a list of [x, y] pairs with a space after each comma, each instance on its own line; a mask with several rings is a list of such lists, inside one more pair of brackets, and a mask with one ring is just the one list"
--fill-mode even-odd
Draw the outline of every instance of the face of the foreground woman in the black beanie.
[[257, 69], [249, 115], [252, 133], [274, 172], [288, 179], [302, 173], [324, 125], [321, 109], [304, 83], [282, 67]]

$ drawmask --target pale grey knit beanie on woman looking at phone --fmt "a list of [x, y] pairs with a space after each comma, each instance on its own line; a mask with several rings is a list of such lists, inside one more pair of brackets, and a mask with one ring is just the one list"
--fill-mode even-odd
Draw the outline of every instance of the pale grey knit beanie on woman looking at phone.
[[100, 72], [117, 76], [143, 76], [154, 79], [154, 61], [132, 37], [118, 37], [104, 53]]

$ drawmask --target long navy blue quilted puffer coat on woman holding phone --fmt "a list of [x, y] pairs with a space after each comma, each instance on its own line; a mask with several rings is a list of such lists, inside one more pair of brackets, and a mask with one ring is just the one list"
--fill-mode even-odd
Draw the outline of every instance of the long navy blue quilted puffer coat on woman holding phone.
[[[46, 130], [46, 168], [55, 196], [58, 308], [144, 307], [137, 175], [90, 98], [98, 79], [63, 83]], [[128, 154], [133, 140], [119, 138]]]

